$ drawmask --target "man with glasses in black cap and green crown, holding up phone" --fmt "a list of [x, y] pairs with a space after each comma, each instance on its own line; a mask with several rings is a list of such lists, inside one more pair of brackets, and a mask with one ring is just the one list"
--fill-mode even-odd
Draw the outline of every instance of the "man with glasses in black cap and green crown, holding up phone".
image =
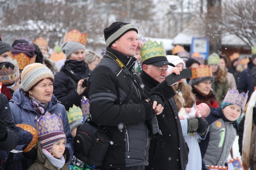
[[[150, 39], [141, 48], [142, 67], [141, 79], [144, 91], [151, 92], [168, 75], [168, 65], [173, 66], [169, 73], [180, 74], [181, 67], [169, 63], [162, 42], [159, 44]], [[183, 81], [181, 79], [178, 82]], [[181, 122], [173, 96], [175, 91], [169, 86], [172, 95], [165, 96], [166, 103], [161, 115], [157, 115], [162, 136], [150, 141], [149, 165], [146, 169], [186, 169], [188, 147], [182, 135]]]

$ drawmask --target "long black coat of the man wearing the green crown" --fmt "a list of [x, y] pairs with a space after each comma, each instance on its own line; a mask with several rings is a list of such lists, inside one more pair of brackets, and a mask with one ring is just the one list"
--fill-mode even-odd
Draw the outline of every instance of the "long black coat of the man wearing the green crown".
[[[145, 93], [151, 92], [151, 89], [159, 84], [144, 71], [141, 72], [141, 79], [145, 85]], [[176, 93], [171, 86], [169, 90], [172, 91], [171, 98], [166, 101], [163, 112], [156, 116], [162, 136], [150, 141], [149, 165], [146, 167], [148, 170], [186, 169], [188, 151], [182, 135], [176, 103], [172, 98]]]

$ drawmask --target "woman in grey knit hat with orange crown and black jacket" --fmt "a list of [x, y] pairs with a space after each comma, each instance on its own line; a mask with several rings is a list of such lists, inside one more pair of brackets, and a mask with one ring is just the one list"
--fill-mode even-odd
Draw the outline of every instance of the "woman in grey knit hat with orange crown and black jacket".
[[54, 75], [53, 94], [66, 108], [66, 111], [74, 105], [81, 108], [81, 99], [87, 96], [87, 81], [90, 74], [85, 63], [86, 33], [78, 30], [66, 32], [62, 52], [67, 60], [60, 71]]

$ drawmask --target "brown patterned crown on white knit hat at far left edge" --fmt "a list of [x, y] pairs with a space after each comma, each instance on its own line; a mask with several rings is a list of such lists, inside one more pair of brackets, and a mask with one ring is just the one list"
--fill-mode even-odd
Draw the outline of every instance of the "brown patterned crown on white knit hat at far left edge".
[[[11, 63], [14, 68], [6, 67], [6, 65], [1, 65], [2, 68], [0, 68], [0, 81], [4, 85], [10, 85], [19, 80], [19, 65], [16, 60], [12, 60], [12, 58], [9, 56], [7, 60], [3, 60], [3, 62], [9, 62]], [[4, 64], [4, 63], [2, 63]], [[8, 64], [8, 63], [5, 63]], [[8, 65], [9, 65], [8, 64]]]

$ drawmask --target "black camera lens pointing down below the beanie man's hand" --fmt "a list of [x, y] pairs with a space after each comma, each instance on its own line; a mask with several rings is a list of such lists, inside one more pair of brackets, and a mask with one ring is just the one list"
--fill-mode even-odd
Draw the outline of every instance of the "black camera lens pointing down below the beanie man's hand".
[[153, 115], [152, 118], [146, 121], [147, 127], [150, 130], [150, 139], [157, 138], [162, 136], [162, 132], [159, 129], [158, 121], [156, 115]]

